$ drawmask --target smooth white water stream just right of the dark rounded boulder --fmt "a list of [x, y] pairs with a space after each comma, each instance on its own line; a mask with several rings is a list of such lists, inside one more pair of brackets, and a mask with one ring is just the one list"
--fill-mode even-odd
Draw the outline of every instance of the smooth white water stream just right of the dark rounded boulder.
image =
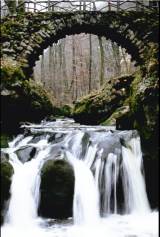
[[75, 172], [74, 222], [75, 224], [96, 224], [99, 218], [98, 190], [93, 174], [83, 161], [75, 159], [71, 153], [67, 152], [67, 158]]

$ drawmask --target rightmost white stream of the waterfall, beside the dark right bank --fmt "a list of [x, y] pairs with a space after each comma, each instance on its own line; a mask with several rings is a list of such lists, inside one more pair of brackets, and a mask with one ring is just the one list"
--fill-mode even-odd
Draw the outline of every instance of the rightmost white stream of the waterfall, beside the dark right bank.
[[122, 146], [126, 212], [149, 212], [150, 207], [141, 172], [142, 153], [139, 138], [132, 138], [128, 145], [129, 148]]

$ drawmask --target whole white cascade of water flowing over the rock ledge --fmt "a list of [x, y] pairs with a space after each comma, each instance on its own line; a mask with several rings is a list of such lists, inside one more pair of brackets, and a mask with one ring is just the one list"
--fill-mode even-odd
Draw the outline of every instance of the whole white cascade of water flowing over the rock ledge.
[[[3, 149], [14, 175], [2, 237], [158, 236], [158, 213], [149, 207], [135, 131], [80, 126], [73, 120], [24, 128], [30, 135], [19, 135]], [[48, 226], [38, 217], [41, 168], [57, 159], [55, 148], [74, 170], [74, 224]], [[25, 149], [35, 149], [32, 159], [25, 160]]]

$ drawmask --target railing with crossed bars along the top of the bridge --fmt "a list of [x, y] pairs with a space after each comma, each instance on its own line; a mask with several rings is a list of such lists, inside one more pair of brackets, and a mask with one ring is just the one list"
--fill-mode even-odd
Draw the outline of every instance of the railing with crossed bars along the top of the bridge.
[[24, 0], [18, 6], [1, 6], [1, 16], [16, 15], [18, 12], [50, 12], [50, 11], [120, 11], [144, 8], [158, 8], [159, 1], [149, 0]]

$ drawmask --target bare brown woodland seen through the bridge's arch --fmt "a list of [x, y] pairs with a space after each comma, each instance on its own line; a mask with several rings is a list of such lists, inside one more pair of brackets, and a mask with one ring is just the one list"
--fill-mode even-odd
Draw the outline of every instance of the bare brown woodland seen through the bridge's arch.
[[124, 48], [105, 37], [81, 33], [66, 36], [44, 50], [33, 78], [62, 106], [135, 70], [135, 62]]

